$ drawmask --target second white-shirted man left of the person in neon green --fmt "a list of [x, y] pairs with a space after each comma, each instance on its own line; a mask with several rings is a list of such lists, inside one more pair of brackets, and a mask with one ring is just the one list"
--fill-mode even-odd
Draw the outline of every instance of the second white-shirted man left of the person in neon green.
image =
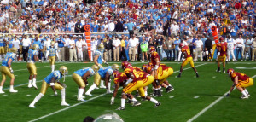
[[119, 48], [121, 46], [121, 41], [118, 36], [113, 39], [113, 61], [119, 61]]

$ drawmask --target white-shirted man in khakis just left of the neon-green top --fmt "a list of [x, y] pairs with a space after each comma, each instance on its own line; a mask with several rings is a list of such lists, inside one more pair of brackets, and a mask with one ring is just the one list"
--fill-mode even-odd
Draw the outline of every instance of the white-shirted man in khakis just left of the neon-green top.
[[129, 39], [128, 46], [129, 46], [129, 57], [131, 61], [135, 61], [135, 55], [136, 55], [137, 46], [138, 46], [138, 39], [135, 38], [135, 35], [132, 35], [132, 38]]

